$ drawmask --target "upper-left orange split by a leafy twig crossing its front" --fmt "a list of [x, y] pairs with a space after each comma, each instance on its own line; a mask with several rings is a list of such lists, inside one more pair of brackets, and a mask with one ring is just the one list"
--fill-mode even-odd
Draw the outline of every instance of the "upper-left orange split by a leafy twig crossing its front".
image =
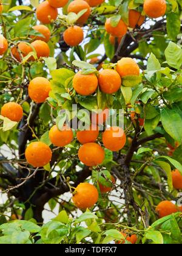
[[32, 51], [33, 49], [31, 48], [31, 46], [24, 42], [18, 44], [18, 49], [15, 46], [11, 49], [13, 57], [15, 57], [18, 62], [21, 62], [21, 55], [19, 52], [21, 52], [22, 57], [25, 57]]

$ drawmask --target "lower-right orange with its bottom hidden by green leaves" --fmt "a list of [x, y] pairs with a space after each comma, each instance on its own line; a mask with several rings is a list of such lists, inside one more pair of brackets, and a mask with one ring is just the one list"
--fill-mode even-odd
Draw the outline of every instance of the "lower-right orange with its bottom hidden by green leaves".
[[176, 205], [170, 201], [162, 201], [157, 205], [155, 211], [158, 213], [159, 218], [163, 218], [172, 213], [178, 212]]

